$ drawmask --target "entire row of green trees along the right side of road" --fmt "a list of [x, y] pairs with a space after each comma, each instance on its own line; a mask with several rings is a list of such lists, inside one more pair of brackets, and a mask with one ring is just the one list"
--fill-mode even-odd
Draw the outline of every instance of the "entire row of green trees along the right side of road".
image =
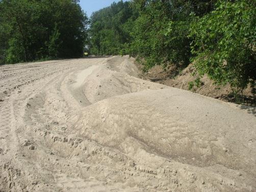
[[130, 54], [152, 66], [194, 64], [200, 86], [207, 74], [235, 93], [256, 87], [255, 0], [133, 0], [94, 12], [92, 54]]

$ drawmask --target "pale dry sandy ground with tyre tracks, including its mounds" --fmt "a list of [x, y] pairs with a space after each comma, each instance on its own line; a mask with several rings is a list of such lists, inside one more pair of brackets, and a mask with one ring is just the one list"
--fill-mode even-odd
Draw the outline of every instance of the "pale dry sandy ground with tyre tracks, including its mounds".
[[256, 191], [255, 108], [129, 57], [0, 67], [0, 191]]

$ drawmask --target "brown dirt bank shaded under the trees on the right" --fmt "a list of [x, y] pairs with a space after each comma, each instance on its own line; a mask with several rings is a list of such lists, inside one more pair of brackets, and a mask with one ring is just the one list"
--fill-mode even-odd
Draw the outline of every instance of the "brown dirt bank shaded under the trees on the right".
[[240, 103], [247, 106], [256, 106], [256, 95], [251, 93], [250, 87], [245, 89], [242, 96], [237, 99], [235, 98], [234, 94], [232, 94], [232, 89], [229, 85], [217, 86], [207, 77], [207, 75], [204, 75], [200, 79], [200, 87], [197, 88], [194, 86], [192, 90], [189, 90], [189, 83], [197, 78], [197, 76], [192, 75], [192, 73], [195, 71], [192, 64], [180, 72], [178, 72], [174, 66], [170, 66], [166, 70], [163, 70], [162, 66], [155, 66], [146, 73], [142, 71], [143, 66], [137, 64], [137, 67], [140, 69], [140, 77], [142, 79], [178, 89], [192, 91], [194, 93], [199, 93], [201, 95], [227, 102]]

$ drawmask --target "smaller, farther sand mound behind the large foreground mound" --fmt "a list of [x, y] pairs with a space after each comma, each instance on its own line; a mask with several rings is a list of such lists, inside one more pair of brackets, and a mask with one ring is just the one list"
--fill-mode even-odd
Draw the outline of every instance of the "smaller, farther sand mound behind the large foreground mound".
[[[131, 68], [128, 66], [131, 66]], [[94, 70], [86, 78], [83, 86], [84, 95], [86, 95], [91, 103], [95, 103], [117, 95], [143, 90], [170, 88], [136, 78], [136, 74], [137, 69], [133, 63], [133, 59], [114, 57], [97, 68], [97, 70]]]

